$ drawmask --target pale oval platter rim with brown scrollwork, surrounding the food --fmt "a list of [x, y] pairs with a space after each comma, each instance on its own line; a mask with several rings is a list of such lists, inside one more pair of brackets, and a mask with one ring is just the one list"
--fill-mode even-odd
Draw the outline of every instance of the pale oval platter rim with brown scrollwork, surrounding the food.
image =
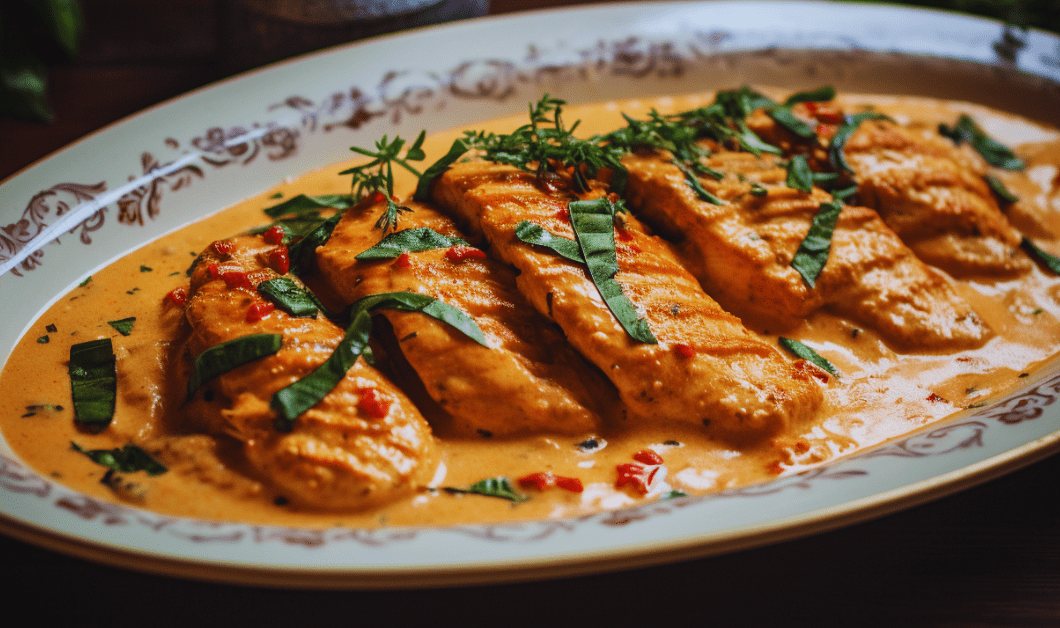
[[[901, 24], [900, 27], [898, 24]], [[270, 66], [127, 118], [0, 185], [0, 356], [95, 268], [384, 134], [744, 83], [977, 102], [1060, 126], [1060, 37], [941, 12], [827, 2], [597, 5], [424, 29]], [[0, 391], [2, 392], [2, 391]], [[295, 587], [497, 582], [682, 560], [831, 529], [936, 499], [1060, 450], [1060, 360], [1007, 397], [813, 470], [578, 519], [300, 529], [101, 502], [0, 439], [0, 531], [170, 575]]]

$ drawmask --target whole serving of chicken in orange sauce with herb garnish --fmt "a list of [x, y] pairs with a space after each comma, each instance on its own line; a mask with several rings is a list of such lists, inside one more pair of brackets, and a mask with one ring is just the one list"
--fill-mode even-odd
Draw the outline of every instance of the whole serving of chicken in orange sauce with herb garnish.
[[360, 152], [60, 298], [8, 443], [190, 517], [568, 517], [806, 470], [1060, 350], [1060, 133], [1004, 112], [546, 97]]

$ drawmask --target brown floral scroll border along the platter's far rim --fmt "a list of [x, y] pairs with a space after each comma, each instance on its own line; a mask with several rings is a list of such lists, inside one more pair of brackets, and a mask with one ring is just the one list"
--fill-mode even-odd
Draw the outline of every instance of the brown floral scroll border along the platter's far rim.
[[[600, 40], [587, 49], [558, 58], [538, 47], [530, 47], [520, 63], [471, 60], [442, 73], [391, 70], [384, 73], [371, 90], [353, 86], [320, 101], [292, 95], [267, 107], [269, 111], [292, 109], [298, 112], [300, 120], [297, 127], [276, 123], [210, 127], [188, 144], [200, 152], [202, 161], [214, 169], [248, 167], [262, 155], [276, 161], [296, 154], [305, 134], [358, 129], [376, 119], [396, 125], [406, 117], [442, 109], [450, 99], [506, 101], [518, 92], [519, 85], [533, 85], [546, 78], [679, 77], [691, 64], [710, 56], [728, 37], [722, 32], [694, 33], [679, 42], [625, 37], [614, 41]], [[250, 139], [244, 141], [244, 138]], [[163, 145], [169, 151], [181, 147], [181, 143], [174, 138], [165, 139]], [[164, 193], [179, 191], [207, 176], [207, 171], [200, 165], [186, 165], [169, 172], [166, 167], [171, 164], [161, 162], [151, 152], [141, 154], [141, 174], [129, 176], [128, 180], [144, 177], [146, 182], [118, 199], [119, 224], [143, 226], [145, 221], [161, 213]], [[158, 172], [163, 174], [152, 176]], [[107, 189], [106, 181], [93, 185], [63, 182], [37, 193], [18, 221], [0, 227], [0, 260], [14, 257], [48, 226], [50, 217], [58, 217], [76, 205], [96, 198]], [[103, 228], [107, 209], [100, 209], [73, 229], [81, 231], [84, 244], [92, 243], [90, 232]], [[23, 272], [39, 267], [42, 259], [43, 251], [38, 250], [12, 273], [22, 276]]]

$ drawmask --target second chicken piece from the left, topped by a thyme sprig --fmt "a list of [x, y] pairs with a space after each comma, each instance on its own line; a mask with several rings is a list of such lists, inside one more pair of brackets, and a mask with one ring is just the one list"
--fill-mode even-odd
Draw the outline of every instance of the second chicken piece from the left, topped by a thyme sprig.
[[[453, 221], [423, 204], [401, 214], [402, 229], [434, 229], [463, 239]], [[465, 435], [584, 434], [601, 426], [594, 400], [614, 398], [554, 326], [526, 302], [511, 268], [470, 247], [406, 252], [398, 259], [358, 261], [383, 231], [374, 228], [386, 204], [346, 212], [317, 265], [347, 302], [372, 294], [430, 295], [475, 319], [483, 347], [448, 325], [418, 312], [383, 310], [402, 353], [428, 395]]]

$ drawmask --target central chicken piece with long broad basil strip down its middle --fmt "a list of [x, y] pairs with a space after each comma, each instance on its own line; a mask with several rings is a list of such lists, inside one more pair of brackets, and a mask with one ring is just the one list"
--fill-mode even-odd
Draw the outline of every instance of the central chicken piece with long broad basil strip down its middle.
[[[819, 385], [703, 293], [669, 246], [620, 216], [615, 279], [658, 344], [633, 339], [607, 309], [585, 266], [525, 244], [522, 221], [573, 239], [563, 181], [485, 161], [458, 163], [432, 186], [490, 252], [518, 269], [518, 286], [571, 345], [615, 383], [641, 420], [703, 422], [729, 439], [773, 435], [814, 414]], [[548, 190], [548, 191], [546, 191]]]

